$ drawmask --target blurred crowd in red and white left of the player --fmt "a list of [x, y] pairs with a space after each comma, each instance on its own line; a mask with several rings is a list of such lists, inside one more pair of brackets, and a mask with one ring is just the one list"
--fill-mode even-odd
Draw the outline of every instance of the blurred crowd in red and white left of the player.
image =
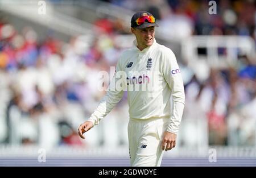
[[[93, 39], [79, 36], [64, 43], [48, 36], [38, 42], [39, 34], [31, 27], [18, 32], [11, 24], [0, 23], [0, 31], [2, 142], [44, 147], [82, 146], [90, 140], [104, 144], [105, 137], [111, 133], [102, 129], [104, 124], [94, 129], [100, 135], [96, 132], [85, 142], [77, 136], [77, 128], [105, 94], [98, 90], [98, 73], [109, 71], [123, 50], [114, 44], [112, 37], [106, 34]], [[86, 47], [87, 43], [90, 46]], [[118, 106], [112, 113], [116, 115], [126, 109], [126, 105], [121, 109]], [[123, 127], [117, 129], [120, 129], [117, 133], [124, 135], [117, 138], [118, 144], [125, 144]]]

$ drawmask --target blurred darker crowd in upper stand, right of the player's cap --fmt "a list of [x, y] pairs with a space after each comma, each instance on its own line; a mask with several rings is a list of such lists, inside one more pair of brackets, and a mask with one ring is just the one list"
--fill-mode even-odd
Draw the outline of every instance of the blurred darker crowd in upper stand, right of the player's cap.
[[[104, 1], [104, 0], [102, 0]], [[168, 39], [189, 35], [247, 35], [255, 39], [253, 0], [221, 0], [216, 14], [209, 14], [212, 4], [204, 0], [105, 0], [133, 11], [147, 10], [158, 20], [159, 31]]]

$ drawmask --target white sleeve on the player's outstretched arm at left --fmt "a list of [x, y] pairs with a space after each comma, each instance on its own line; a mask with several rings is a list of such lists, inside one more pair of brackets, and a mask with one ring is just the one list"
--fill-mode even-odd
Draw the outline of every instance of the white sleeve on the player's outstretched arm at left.
[[[121, 61], [118, 60], [117, 67], [115, 68], [115, 74], [112, 80], [110, 81], [110, 85], [108, 91], [105, 96], [100, 101], [100, 104], [97, 106], [96, 110], [90, 115], [88, 121], [91, 121], [94, 125], [98, 125], [101, 119], [103, 119], [110, 111], [114, 108], [115, 105], [122, 99], [123, 96], [123, 88], [117, 86], [118, 81], [122, 80], [122, 78], [116, 77], [117, 72], [122, 72]], [[114, 86], [114, 87], [113, 87]]]

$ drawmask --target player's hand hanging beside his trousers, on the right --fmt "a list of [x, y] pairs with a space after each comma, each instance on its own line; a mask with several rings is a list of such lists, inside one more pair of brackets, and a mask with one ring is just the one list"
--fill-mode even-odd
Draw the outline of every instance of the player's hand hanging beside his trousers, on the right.
[[165, 150], [168, 151], [174, 148], [176, 146], [176, 138], [176, 134], [165, 131], [162, 140], [162, 150], [165, 148]]

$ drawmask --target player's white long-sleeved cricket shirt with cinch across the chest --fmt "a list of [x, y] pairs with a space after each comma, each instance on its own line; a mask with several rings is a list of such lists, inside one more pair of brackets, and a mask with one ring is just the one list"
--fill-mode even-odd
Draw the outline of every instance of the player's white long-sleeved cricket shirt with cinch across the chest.
[[134, 40], [133, 47], [119, 58], [108, 92], [88, 120], [98, 125], [127, 90], [131, 119], [170, 118], [167, 131], [177, 133], [185, 101], [180, 72], [170, 48], [154, 39], [140, 51]]

